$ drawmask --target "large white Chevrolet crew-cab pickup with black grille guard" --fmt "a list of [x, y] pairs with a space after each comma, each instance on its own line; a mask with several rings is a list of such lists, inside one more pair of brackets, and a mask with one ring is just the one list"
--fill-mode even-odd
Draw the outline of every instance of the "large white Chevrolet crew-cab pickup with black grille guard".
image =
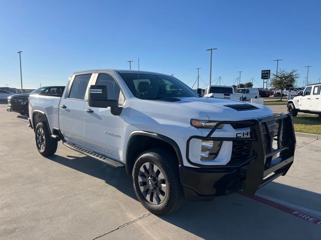
[[[137, 198], [166, 214], [184, 199], [255, 191], [293, 162], [291, 117], [267, 106], [201, 97], [161, 73], [100, 69], [71, 75], [62, 97], [30, 95], [40, 154], [57, 142], [132, 175]], [[66, 182], [68, 184], [68, 182]]]

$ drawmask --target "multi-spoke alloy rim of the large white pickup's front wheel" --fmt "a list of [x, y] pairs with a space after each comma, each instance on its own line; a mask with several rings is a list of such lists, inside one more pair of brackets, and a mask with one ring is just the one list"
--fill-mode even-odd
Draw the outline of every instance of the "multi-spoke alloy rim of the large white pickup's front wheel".
[[145, 199], [155, 205], [161, 204], [167, 195], [168, 184], [161, 168], [152, 162], [145, 162], [138, 172], [138, 184]]

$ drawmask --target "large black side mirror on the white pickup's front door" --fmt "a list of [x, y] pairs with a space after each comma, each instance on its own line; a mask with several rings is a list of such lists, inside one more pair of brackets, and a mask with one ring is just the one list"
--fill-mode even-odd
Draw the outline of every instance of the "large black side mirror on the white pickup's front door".
[[88, 104], [92, 107], [118, 107], [118, 100], [108, 100], [107, 86], [90, 85]]

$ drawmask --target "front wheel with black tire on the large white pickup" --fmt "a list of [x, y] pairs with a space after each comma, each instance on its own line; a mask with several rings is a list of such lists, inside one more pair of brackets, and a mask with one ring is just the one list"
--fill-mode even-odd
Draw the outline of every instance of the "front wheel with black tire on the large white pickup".
[[[152, 165], [151, 168], [153, 169], [150, 172], [148, 171], [150, 168], [147, 171], [142, 171], [141, 169], [145, 169], [144, 166], [147, 164], [148, 166]], [[155, 168], [157, 171], [160, 171], [158, 175], [157, 171], [154, 172]], [[162, 178], [163, 180], [158, 182], [157, 178], [160, 178], [159, 176], [162, 174], [164, 179]], [[147, 210], [154, 214], [169, 214], [179, 209], [185, 200], [177, 157], [165, 149], [155, 148], [142, 152], [134, 163], [132, 178], [134, 190], [139, 201]], [[154, 180], [152, 180], [153, 178]], [[153, 183], [155, 181], [157, 182]], [[164, 184], [166, 189], [162, 187]], [[161, 191], [162, 195], [159, 194]], [[149, 200], [147, 200], [148, 197]]]

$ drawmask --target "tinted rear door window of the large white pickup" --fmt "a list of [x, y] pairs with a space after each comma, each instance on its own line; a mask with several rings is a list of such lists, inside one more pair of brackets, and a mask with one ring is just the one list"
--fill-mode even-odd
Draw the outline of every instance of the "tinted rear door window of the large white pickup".
[[86, 90], [90, 77], [91, 73], [76, 75], [72, 82], [68, 97], [80, 100], [85, 99]]

